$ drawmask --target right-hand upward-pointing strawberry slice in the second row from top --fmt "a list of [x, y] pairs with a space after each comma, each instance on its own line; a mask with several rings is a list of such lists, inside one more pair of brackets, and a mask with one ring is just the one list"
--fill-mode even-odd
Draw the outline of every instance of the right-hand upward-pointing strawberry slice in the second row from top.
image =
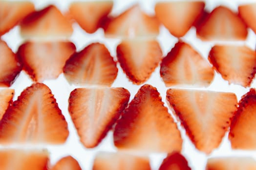
[[213, 81], [214, 70], [189, 44], [178, 42], [163, 58], [160, 75], [166, 86], [208, 86]]

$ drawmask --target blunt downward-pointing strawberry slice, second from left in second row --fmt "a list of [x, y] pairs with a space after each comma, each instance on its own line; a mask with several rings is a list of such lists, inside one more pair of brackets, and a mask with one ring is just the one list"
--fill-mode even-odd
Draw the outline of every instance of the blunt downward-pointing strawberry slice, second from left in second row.
[[66, 60], [76, 51], [71, 42], [31, 42], [22, 44], [17, 52], [23, 69], [35, 82], [56, 79], [62, 72]]

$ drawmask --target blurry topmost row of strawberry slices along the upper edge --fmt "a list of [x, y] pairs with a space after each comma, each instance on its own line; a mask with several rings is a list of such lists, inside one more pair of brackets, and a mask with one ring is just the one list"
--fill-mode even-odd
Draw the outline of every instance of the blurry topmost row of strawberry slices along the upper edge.
[[156, 37], [160, 22], [177, 37], [184, 36], [195, 26], [198, 37], [203, 40], [245, 40], [247, 27], [256, 32], [253, 22], [256, 3], [239, 6], [238, 14], [224, 6], [216, 7], [209, 14], [203, 1], [157, 2], [156, 16], [149, 16], [134, 5], [116, 17], [108, 15], [112, 6], [111, 0], [73, 2], [68, 15], [64, 16], [53, 5], [35, 11], [31, 2], [0, 1], [0, 35], [19, 23], [25, 38], [69, 37], [73, 33], [70, 18], [87, 33], [103, 27], [110, 37]]

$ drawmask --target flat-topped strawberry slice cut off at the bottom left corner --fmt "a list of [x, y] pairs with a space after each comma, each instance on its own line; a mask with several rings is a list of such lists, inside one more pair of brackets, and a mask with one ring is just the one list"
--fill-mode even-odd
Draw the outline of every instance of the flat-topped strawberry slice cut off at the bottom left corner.
[[0, 170], [47, 170], [48, 154], [38, 150], [0, 150]]

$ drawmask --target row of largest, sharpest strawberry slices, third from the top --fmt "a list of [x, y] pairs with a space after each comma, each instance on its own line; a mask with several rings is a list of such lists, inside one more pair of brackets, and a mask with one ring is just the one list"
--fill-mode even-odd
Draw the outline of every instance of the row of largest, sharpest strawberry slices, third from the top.
[[[1, 144], [66, 141], [67, 122], [46, 85], [27, 87], [15, 102], [13, 94], [12, 89], [0, 91]], [[120, 150], [180, 152], [180, 132], [157, 89], [143, 85], [128, 104], [129, 97], [120, 87], [77, 88], [70, 93], [68, 111], [84, 146], [96, 147], [114, 127], [114, 145]], [[235, 94], [227, 92], [171, 88], [166, 99], [199, 151], [211, 153], [229, 128], [232, 148], [256, 148], [255, 89], [242, 97], [238, 108]]]

